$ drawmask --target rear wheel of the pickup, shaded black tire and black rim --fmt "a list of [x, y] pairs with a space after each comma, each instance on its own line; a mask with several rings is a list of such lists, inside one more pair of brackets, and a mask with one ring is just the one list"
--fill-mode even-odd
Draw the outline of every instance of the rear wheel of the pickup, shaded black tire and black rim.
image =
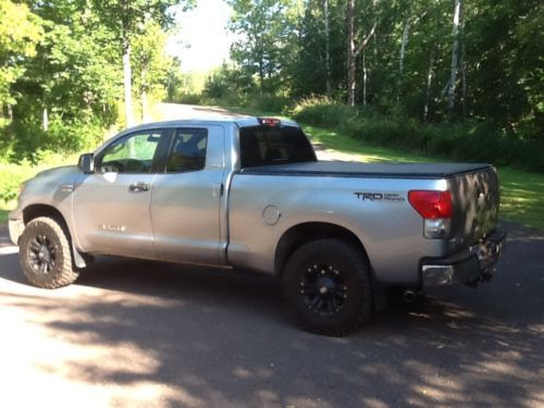
[[311, 333], [344, 336], [373, 313], [368, 262], [338, 239], [314, 240], [296, 250], [282, 285], [298, 324]]

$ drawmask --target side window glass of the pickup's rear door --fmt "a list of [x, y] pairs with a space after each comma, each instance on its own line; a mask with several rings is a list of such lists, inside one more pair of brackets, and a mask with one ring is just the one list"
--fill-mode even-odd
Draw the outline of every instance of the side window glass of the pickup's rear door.
[[180, 128], [175, 132], [166, 161], [166, 172], [202, 170], [206, 165], [208, 129]]

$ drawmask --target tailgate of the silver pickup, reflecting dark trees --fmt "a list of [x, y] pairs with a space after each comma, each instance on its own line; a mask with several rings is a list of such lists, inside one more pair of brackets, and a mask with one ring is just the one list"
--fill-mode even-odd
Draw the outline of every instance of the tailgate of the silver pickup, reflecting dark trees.
[[459, 249], [490, 235], [497, 222], [499, 206], [498, 177], [490, 165], [448, 180], [454, 203], [452, 235]]

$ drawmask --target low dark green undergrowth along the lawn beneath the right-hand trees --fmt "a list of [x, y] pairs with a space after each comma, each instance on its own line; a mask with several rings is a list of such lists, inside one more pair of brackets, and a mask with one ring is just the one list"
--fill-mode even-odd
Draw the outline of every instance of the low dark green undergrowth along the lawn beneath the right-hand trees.
[[323, 97], [300, 100], [293, 109], [300, 122], [334, 128], [350, 138], [455, 161], [491, 162], [544, 171], [544, 141], [523, 140], [492, 122], [423, 124], [401, 115], [379, 114]]

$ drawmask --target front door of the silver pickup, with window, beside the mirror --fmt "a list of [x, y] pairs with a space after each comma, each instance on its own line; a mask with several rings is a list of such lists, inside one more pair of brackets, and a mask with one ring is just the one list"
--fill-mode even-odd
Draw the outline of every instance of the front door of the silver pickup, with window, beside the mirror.
[[168, 132], [132, 133], [97, 154], [95, 174], [84, 175], [74, 190], [76, 238], [84, 251], [156, 258], [149, 205]]

